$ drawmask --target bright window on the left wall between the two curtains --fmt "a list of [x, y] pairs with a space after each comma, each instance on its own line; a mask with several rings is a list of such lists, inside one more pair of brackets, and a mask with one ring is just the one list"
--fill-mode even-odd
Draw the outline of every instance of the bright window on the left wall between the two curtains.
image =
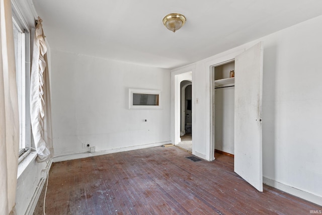
[[[15, 12], [13, 12], [15, 15]], [[13, 32], [16, 59], [16, 81], [19, 105], [19, 161], [30, 150], [30, 111], [29, 111], [29, 88], [30, 88], [30, 36], [25, 30], [23, 23], [13, 17]]]

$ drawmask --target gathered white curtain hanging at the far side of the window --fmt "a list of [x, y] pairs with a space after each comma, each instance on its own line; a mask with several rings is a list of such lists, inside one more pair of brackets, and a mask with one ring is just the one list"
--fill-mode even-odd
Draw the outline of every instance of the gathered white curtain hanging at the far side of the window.
[[47, 47], [41, 22], [38, 17], [30, 82], [30, 118], [38, 162], [48, 161], [53, 155]]

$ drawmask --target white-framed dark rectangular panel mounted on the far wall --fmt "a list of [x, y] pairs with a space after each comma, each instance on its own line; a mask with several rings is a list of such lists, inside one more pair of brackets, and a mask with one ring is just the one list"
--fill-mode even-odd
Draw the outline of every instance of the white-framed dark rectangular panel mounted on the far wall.
[[129, 89], [129, 109], [162, 110], [161, 91]]

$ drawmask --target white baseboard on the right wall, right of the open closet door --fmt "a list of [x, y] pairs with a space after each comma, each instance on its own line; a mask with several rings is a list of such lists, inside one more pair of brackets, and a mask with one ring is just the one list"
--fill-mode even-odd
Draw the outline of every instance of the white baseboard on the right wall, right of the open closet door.
[[289, 185], [286, 184], [282, 184], [280, 182], [277, 182], [273, 179], [269, 179], [266, 177], [263, 177], [263, 183], [267, 184], [271, 187], [274, 187], [276, 189], [282, 190], [284, 192], [287, 192], [291, 195], [297, 196], [299, 198], [305, 199], [307, 201], [313, 202], [315, 204], [321, 205], [322, 206], [322, 197], [314, 195], [312, 193], [303, 191], [303, 190], [299, 190], [295, 187], [291, 187]]

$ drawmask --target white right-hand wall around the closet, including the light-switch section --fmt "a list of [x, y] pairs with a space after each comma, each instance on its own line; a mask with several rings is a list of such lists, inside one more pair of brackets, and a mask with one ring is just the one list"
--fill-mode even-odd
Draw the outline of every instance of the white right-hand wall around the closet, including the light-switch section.
[[189, 65], [196, 67], [195, 147], [211, 160], [210, 66], [264, 41], [264, 182], [318, 204], [322, 204], [321, 25], [322, 16]]

